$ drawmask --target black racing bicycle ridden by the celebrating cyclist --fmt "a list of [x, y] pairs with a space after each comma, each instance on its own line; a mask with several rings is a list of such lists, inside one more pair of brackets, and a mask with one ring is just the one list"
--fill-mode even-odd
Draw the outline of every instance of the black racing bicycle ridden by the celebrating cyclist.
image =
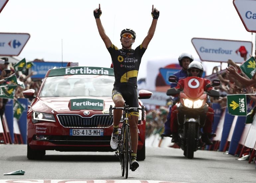
[[[112, 116], [112, 110], [114, 109], [122, 109], [123, 112], [123, 125], [121, 129], [121, 133], [118, 137], [118, 147], [117, 151], [115, 152], [115, 156], [119, 157], [119, 161], [121, 164], [121, 173], [122, 177], [125, 173], [125, 178], [128, 177], [128, 170], [131, 169], [131, 135], [130, 135], [130, 126], [129, 126], [129, 118], [128, 114], [130, 114], [130, 109], [138, 109], [142, 111], [141, 120], [144, 120], [144, 106], [142, 105], [141, 108], [139, 107], [129, 107], [129, 105], [125, 105], [124, 107], [109, 107], [109, 119]], [[132, 115], [130, 115], [132, 117]], [[129, 169], [128, 169], [129, 165]]]

